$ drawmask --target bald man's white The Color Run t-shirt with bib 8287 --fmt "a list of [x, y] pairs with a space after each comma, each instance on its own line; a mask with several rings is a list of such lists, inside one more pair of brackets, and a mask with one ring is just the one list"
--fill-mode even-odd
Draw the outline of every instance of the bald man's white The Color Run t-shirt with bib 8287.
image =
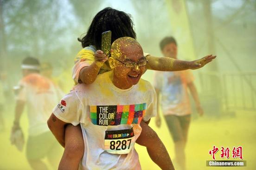
[[81, 124], [83, 170], [141, 169], [134, 143], [141, 134], [140, 121], [156, 115], [156, 94], [143, 79], [119, 89], [109, 78], [112, 72], [98, 75], [90, 85], [76, 85], [53, 110], [60, 120]]

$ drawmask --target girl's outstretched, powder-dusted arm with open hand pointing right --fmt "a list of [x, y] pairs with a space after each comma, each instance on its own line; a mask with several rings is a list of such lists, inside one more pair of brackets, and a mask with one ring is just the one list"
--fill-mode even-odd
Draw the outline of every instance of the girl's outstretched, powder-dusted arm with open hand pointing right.
[[169, 57], [155, 57], [147, 55], [147, 69], [158, 71], [182, 71], [187, 69], [198, 69], [216, 58], [216, 55], [207, 55], [199, 60], [182, 61]]

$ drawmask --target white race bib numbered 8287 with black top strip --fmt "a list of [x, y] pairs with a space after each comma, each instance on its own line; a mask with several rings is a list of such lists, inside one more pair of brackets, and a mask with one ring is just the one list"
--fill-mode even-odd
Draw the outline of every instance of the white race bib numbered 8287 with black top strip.
[[104, 140], [104, 150], [112, 154], [127, 154], [134, 147], [133, 128], [123, 130], [107, 130]]

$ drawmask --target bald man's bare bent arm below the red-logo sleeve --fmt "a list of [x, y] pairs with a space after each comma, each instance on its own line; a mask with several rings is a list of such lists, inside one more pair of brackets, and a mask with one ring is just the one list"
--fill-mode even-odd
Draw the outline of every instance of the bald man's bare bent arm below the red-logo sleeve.
[[52, 134], [63, 147], [65, 147], [65, 125], [67, 124], [69, 123], [59, 120], [53, 113], [47, 121], [47, 125]]

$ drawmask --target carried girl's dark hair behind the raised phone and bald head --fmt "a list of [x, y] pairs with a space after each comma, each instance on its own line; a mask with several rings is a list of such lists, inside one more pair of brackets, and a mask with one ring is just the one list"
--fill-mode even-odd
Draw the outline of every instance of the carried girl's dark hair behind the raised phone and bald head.
[[129, 36], [136, 39], [133, 25], [133, 21], [129, 14], [107, 7], [96, 14], [86, 35], [82, 40], [78, 38], [78, 41], [82, 42], [83, 48], [89, 45], [95, 45], [96, 49], [100, 49], [102, 32], [108, 30], [112, 31], [111, 44], [117, 38], [123, 36]]

